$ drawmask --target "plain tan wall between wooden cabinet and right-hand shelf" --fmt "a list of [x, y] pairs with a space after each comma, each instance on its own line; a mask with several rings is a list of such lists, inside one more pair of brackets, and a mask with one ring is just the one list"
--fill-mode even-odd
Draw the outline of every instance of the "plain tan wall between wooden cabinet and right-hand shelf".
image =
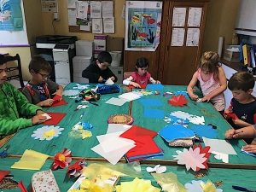
[[219, 36], [224, 37], [224, 44], [231, 44], [239, 3], [240, 0], [210, 1], [202, 53], [207, 50], [217, 52]]

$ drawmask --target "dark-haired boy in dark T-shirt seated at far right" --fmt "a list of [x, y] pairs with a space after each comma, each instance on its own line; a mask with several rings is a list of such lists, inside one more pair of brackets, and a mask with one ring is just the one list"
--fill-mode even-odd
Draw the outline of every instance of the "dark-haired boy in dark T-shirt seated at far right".
[[[235, 113], [238, 117], [238, 119], [228, 120], [236, 130], [256, 124], [256, 101], [251, 95], [254, 83], [253, 75], [246, 72], [235, 73], [228, 83], [233, 98], [230, 102], [230, 108], [225, 113]], [[245, 141], [251, 143], [253, 139], [245, 139]]]

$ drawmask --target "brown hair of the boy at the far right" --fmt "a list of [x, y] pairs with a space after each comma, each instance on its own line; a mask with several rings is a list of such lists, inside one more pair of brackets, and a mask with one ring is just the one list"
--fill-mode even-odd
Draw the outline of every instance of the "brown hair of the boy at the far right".
[[255, 80], [253, 75], [247, 72], [235, 73], [229, 80], [228, 87], [230, 90], [247, 90], [253, 89]]

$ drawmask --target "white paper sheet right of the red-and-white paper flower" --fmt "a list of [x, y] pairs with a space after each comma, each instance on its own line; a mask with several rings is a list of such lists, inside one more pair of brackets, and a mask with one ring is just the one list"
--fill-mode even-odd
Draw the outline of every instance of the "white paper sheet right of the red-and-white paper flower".
[[226, 140], [221, 139], [210, 139], [207, 137], [202, 137], [206, 146], [210, 146], [210, 151], [217, 151], [223, 154], [236, 154], [235, 149]]

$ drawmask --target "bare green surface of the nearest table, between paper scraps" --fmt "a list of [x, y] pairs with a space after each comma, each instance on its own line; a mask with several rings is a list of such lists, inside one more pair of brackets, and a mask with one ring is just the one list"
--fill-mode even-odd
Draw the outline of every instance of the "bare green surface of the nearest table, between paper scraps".
[[[12, 166], [18, 159], [2, 159], [1, 162], [1, 169], [2, 170], [10, 170], [9, 167]], [[41, 168], [40, 171], [49, 170], [53, 161], [52, 160], [46, 160], [44, 163], [44, 166]], [[74, 162], [72, 162], [73, 164]], [[160, 188], [160, 186], [155, 182], [154, 178], [146, 172], [147, 165], [142, 165], [142, 172], [143, 172], [143, 178], [150, 180], [152, 185], [154, 185], [157, 188]], [[151, 165], [151, 167], [154, 167]], [[18, 170], [18, 169], [11, 169], [11, 174], [15, 175], [14, 180], [16, 182], [22, 182], [28, 189], [28, 191], [31, 191], [31, 178], [32, 175], [35, 172], [38, 171], [28, 171], [28, 170]], [[59, 169], [54, 171], [56, 182], [59, 185], [59, 188], [61, 191], [67, 191], [73, 183], [74, 178], [68, 178], [66, 175], [67, 167], [65, 169]], [[223, 189], [223, 191], [236, 191], [232, 189], [232, 185], [239, 185], [246, 187], [247, 189], [255, 189], [255, 182], [253, 179], [255, 177], [256, 171], [255, 170], [242, 170], [242, 169], [219, 169], [219, 168], [211, 168], [207, 172], [201, 170], [200, 173], [205, 173], [205, 177], [202, 178], [195, 178], [195, 174], [199, 172], [186, 172], [184, 166], [167, 166], [166, 172], [173, 172], [177, 175], [177, 179], [180, 183], [185, 184], [191, 182], [191, 180], [204, 180], [207, 181], [207, 179], [210, 179], [212, 182], [218, 182], [223, 181], [224, 183], [220, 186], [220, 189]], [[134, 177], [121, 177], [119, 180], [120, 182], [127, 182], [132, 181]], [[20, 192], [20, 189], [11, 189], [11, 190], [1, 190], [1, 191], [12, 191], [12, 192]]]

